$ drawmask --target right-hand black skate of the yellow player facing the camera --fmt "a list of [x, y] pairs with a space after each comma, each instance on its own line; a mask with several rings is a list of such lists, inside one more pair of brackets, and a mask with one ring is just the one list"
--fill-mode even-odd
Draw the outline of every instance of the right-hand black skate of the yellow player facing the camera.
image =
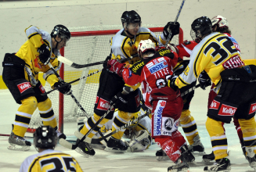
[[128, 145], [125, 144], [125, 142], [123, 142], [121, 139], [119, 140], [113, 137], [110, 138], [106, 145], [107, 147], [105, 151], [107, 152], [122, 153], [128, 149]]

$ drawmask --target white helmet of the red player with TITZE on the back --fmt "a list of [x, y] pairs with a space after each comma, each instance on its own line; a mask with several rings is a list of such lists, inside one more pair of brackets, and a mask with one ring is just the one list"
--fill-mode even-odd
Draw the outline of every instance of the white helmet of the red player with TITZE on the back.
[[[148, 52], [148, 51], [153, 51], [156, 52], [156, 45], [155, 43], [153, 43], [153, 41], [151, 41], [151, 39], [148, 40], [141, 40], [139, 41], [139, 45], [138, 45], [138, 55], [140, 58], [143, 58], [143, 53]], [[152, 56], [154, 55], [154, 53], [152, 54]], [[148, 56], [150, 57], [150, 56]]]

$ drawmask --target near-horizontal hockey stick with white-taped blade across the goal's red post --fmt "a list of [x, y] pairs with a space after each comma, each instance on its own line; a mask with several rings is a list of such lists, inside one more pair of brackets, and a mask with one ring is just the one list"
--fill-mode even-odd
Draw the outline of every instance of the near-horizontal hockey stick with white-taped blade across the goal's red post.
[[[133, 59], [135, 58], [136, 56], [138, 56], [137, 54], [135, 54], [134, 56], [131, 56], [129, 58], [126, 58], [126, 59], [121, 59], [120, 60], [120, 63], [124, 63], [125, 61], [127, 60], [130, 60], [130, 59]], [[96, 63], [89, 63], [89, 64], [77, 64], [77, 63], [74, 63], [72, 62], [70, 59], [67, 59], [63, 56], [58, 56], [57, 58], [59, 60], [59, 62], [62, 62], [70, 67], [74, 67], [76, 69], [80, 69], [80, 68], [84, 68], [84, 67], [89, 67], [89, 66], [96, 66], [96, 65], [99, 65], [99, 64], [103, 64], [103, 63], [106, 63], [106, 61], [100, 61], [100, 62], [96, 62]]]

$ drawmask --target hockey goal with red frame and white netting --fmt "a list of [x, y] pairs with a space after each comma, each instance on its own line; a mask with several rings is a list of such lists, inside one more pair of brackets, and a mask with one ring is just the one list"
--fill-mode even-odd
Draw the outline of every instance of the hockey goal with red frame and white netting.
[[[164, 29], [162, 25], [143, 25], [142, 27], [150, 28], [154, 34], [160, 35]], [[103, 61], [106, 56], [110, 55], [110, 39], [121, 30], [121, 25], [95, 26], [95, 27], [72, 27], [68, 28], [71, 32], [70, 41], [67, 46], [61, 49], [62, 56], [70, 59], [74, 63], [87, 64]], [[178, 45], [183, 41], [183, 32], [175, 35], [171, 40], [172, 44]], [[96, 70], [103, 69], [103, 65], [89, 66], [81, 69], [74, 69], [70, 66], [63, 65], [59, 75], [65, 82], [70, 82], [93, 73]], [[93, 74], [72, 84], [72, 91], [78, 102], [85, 109], [89, 116], [93, 115], [96, 94], [99, 88], [100, 73]], [[49, 83], [45, 84], [45, 91], [50, 91]], [[79, 116], [85, 116], [76, 102], [69, 95], [59, 94], [59, 91], [52, 91], [49, 95], [52, 100], [52, 109], [55, 113], [56, 120], [59, 121], [60, 129], [63, 128], [63, 119], [66, 121], [76, 120]], [[42, 124], [38, 109], [35, 110], [30, 128], [38, 127]]]

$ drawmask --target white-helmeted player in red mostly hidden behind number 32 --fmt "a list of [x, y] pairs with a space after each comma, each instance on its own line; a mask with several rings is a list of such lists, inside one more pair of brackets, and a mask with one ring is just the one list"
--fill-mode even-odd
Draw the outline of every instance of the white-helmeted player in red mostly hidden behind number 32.
[[[231, 30], [229, 29], [228, 20], [225, 17], [219, 16], [219, 15], [214, 16], [211, 19], [211, 24], [212, 24], [211, 28], [212, 28], [213, 32], [220, 32], [222, 34], [227, 35], [231, 39], [231, 41], [233, 41], [233, 44], [235, 45], [236, 49], [240, 52], [240, 46], [238, 45], [236, 39], [232, 37]], [[204, 83], [207, 83], [207, 81], [211, 81], [211, 78], [207, 76], [207, 73], [204, 73], [204, 77], [202, 77], [201, 80], [205, 81]], [[215, 84], [212, 84], [211, 85], [211, 91], [209, 93], [208, 108], [211, 106], [212, 100], [215, 99], [215, 97], [217, 95], [214, 88], [215, 88]], [[244, 142], [243, 142], [243, 133], [241, 131], [240, 124], [239, 124], [238, 120], [235, 117], [233, 117], [233, 123], [236, 126], [237, 135], [240, 139], [240, 144], [241, 144], [241, 147], [243, 149], [243, 154], [245, 156], [246, 151], [245, 151], [245, 146], [244, 146]], [[211, 152], [211, 154], [203, 156], [204, 163], [209, 163], [211, 160], [214, 160], [214, 159], [215, 159], [215, 155], [214, 155], [213, 152]]]

